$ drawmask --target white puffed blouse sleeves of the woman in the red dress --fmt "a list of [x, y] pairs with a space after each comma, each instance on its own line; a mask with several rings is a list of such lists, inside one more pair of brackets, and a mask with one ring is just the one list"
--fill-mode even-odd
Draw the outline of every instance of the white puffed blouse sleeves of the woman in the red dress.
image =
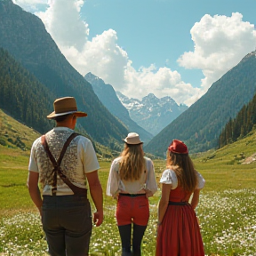
[[[196, 189], [204, 188], [205, 180], [204, 180], [203, 176], [199, 172], [196, 172], [196, 175], [197, 175], [197, 181], [198, 181]], [[178, 179], [177, 179], [176, 173], [171, 169], [164, 170], [162, 177], [160, 179], [160, 183], [172, 184], [172, 189], [177, 188], [178, 187]]]

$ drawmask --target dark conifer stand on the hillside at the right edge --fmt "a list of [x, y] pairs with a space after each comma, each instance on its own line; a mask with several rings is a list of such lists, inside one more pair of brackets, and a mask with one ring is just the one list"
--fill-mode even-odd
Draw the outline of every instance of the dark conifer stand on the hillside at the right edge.
[[249, 104], [238, 112], [235, 118], [230, 118], [220, 133], [219, 148], [244, 138], [256, 124], [256, 94]]

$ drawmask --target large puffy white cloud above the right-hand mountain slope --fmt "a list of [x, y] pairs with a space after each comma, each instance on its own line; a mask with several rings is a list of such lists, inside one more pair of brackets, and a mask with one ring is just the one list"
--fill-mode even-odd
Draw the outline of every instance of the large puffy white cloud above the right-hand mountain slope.
[[231, 17], [206, 14], [190, 30], [195, 51], [185, 52], [178, 62], [184, 68], [202, 69], [203, 92], [255, 50], [254, 25], [242, 19], [243, 15], [238, 12]]

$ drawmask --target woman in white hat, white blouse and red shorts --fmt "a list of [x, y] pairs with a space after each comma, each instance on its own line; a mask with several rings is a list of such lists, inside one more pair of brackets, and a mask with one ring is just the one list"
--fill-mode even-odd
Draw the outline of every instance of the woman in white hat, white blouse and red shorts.
[[122, 256], [140, 256], [149, 219], [148, 197], [157, 190], [156, 176], [153, 162], [144, 156], [139, 134], [129, 133], [124, 142], [123, 152], [110, 167], [107, 195], [117, 199], [116, 221]]

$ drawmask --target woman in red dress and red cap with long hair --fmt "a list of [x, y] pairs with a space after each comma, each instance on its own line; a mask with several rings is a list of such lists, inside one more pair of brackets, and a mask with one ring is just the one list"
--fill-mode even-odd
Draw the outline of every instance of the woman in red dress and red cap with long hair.
[[160, 183], [156, 256], [204, 256], [195, 209], [205, 180], [194, 169], [188, 148], [180, 140], [172, 140], [168, 148], [167, 168]]

